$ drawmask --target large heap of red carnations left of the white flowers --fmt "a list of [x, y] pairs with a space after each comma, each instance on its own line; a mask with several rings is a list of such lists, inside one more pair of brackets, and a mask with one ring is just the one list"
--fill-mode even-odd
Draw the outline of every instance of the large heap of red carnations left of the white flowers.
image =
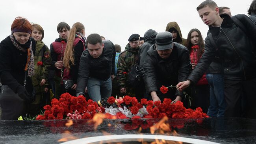
[[62, 94], [60, 99], [52, 99], [51, 106], [44, 106], [43, 115], [38, 115], [37, 120], [50, 119], [91, 119], [95, 113], [102, 112], [98, 104], [85, 97], [71, 96], [69, 93]]

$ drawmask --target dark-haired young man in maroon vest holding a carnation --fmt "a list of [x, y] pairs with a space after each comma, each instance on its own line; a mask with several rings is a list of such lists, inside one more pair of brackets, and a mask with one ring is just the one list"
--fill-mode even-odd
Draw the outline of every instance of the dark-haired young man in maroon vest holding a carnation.
[[[54, 91], [55, 91], [55, 98], [59, 99], [61, 95], [61, 69], [63, 68], [63, 57], [64, 52], [67, 45], [67, 39], [69, 38], [69, 31], [70, 27], [65, 22], [60, 22], [57, 26], [57, 31], [59, 33], [59, 38], [57, 38], [51, 45], [50, 45], [50, 52], [52, 58], [52, 69], [55, 70], [54, 76]], [[49, 79], [53, 79], [53, 77], [49, 77]], [[52, 85], [52, 84], [51, 84]]]

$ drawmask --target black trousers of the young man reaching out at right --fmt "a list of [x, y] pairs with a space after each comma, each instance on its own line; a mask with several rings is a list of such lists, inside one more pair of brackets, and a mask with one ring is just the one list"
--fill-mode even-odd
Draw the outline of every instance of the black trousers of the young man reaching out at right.
[[224, 94], [225, 117], [242, 117], [244, 106], [245, 117], [256, 119], [256, 77], [246, 81], [224, 80]]

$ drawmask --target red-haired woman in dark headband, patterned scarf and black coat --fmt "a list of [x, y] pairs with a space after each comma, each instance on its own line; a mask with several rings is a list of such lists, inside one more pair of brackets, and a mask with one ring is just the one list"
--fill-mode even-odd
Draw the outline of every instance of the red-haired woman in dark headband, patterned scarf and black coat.
[[17, 17], [11, 25], [11, 35], [0, 43], [1, 120], [17, 120], [31, 102], [35, 52], [31, 33], [30, 22]]

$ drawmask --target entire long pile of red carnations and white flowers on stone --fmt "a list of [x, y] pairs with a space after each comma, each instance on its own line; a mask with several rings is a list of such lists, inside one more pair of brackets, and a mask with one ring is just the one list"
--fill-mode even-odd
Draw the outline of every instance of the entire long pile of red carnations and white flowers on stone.
[[105, 113], [107, 119], [141, 119], [141, 118], [204, 118], [208, 117], [202, 109], [186, 109], [181, 101], [171, 103], [171, 99], [160, 101], [139, 102], [135, 97], [128, 95], [101, 99], [98, 103], [89, 99], [86, 101], [82, 95], [71, 96], [62, 94], [60, 99], [52, 99], [51, 106], [44, 106], [43, 115], [38, 115], [37, 120], [45, 119], [92, 119], [96, 113]]

